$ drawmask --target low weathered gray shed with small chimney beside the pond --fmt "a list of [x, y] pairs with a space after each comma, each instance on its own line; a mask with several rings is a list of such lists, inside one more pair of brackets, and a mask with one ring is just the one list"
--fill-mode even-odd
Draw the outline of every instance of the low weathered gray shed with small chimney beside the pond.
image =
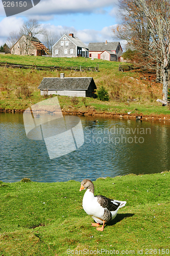
[[44, 77], [38, 87], [41, 95], [56, 94], [63, 96], [94, 97], [97, 89], [92, 77]]

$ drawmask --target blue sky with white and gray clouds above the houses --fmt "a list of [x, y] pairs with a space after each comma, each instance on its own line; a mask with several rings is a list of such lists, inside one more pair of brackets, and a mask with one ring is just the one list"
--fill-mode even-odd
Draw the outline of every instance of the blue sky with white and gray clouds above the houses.
[[59, 35], [74, 31], [86, 45], [115, 41], [112, 27], [119, 22], [117, 14], [117, 0], [41, 0], [28, 11], [6, 17], [0, 0], [0, 46], [10, 32], [19, 31], [23, 21], [29, 18], [38, 19], [43, 28]]

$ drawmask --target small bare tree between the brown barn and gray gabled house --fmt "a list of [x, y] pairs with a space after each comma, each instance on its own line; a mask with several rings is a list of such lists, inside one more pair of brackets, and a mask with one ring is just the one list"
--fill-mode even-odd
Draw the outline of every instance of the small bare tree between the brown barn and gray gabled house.
[[57, 35], [53, 31], [44, 31], [44, 36], [43, 36], [43, 44], [48, 48], [48, 51], [50, 54], [52, 54], [52, 48], [55, 44], [55, 42], [59, 39], [59, 35]]

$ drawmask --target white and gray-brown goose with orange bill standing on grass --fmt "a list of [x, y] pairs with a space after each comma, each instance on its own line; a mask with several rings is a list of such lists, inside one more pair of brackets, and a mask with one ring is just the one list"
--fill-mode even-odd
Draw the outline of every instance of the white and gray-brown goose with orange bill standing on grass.
[[[105, 223], [113, 220], [119, 208], [125, 206], [126, 201], [109, 199], [104, 196], [94, 196], [94, 185], [91, 180], [84, 179], [81, 182], [80, 191], [87, 189], [83, 197], [83, 209], [90, 215], [96, 223], [91, 226], [103, 231]], [[103, 224], [102, 227], [99, 227]]]

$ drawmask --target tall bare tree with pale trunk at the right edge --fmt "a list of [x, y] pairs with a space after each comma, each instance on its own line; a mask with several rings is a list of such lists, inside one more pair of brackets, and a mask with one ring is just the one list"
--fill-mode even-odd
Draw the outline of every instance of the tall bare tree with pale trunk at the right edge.
[[[170, 3], [169, 0], [123, 0], [122, 30], [132, 47], [142, 51], [145, 65], [162, 75], [163, 100], [167, 100], [170, 63]], [[117, 28], [117, 32], [119, 28]], [[125, 39], [125, 38], [124, 38]]]

